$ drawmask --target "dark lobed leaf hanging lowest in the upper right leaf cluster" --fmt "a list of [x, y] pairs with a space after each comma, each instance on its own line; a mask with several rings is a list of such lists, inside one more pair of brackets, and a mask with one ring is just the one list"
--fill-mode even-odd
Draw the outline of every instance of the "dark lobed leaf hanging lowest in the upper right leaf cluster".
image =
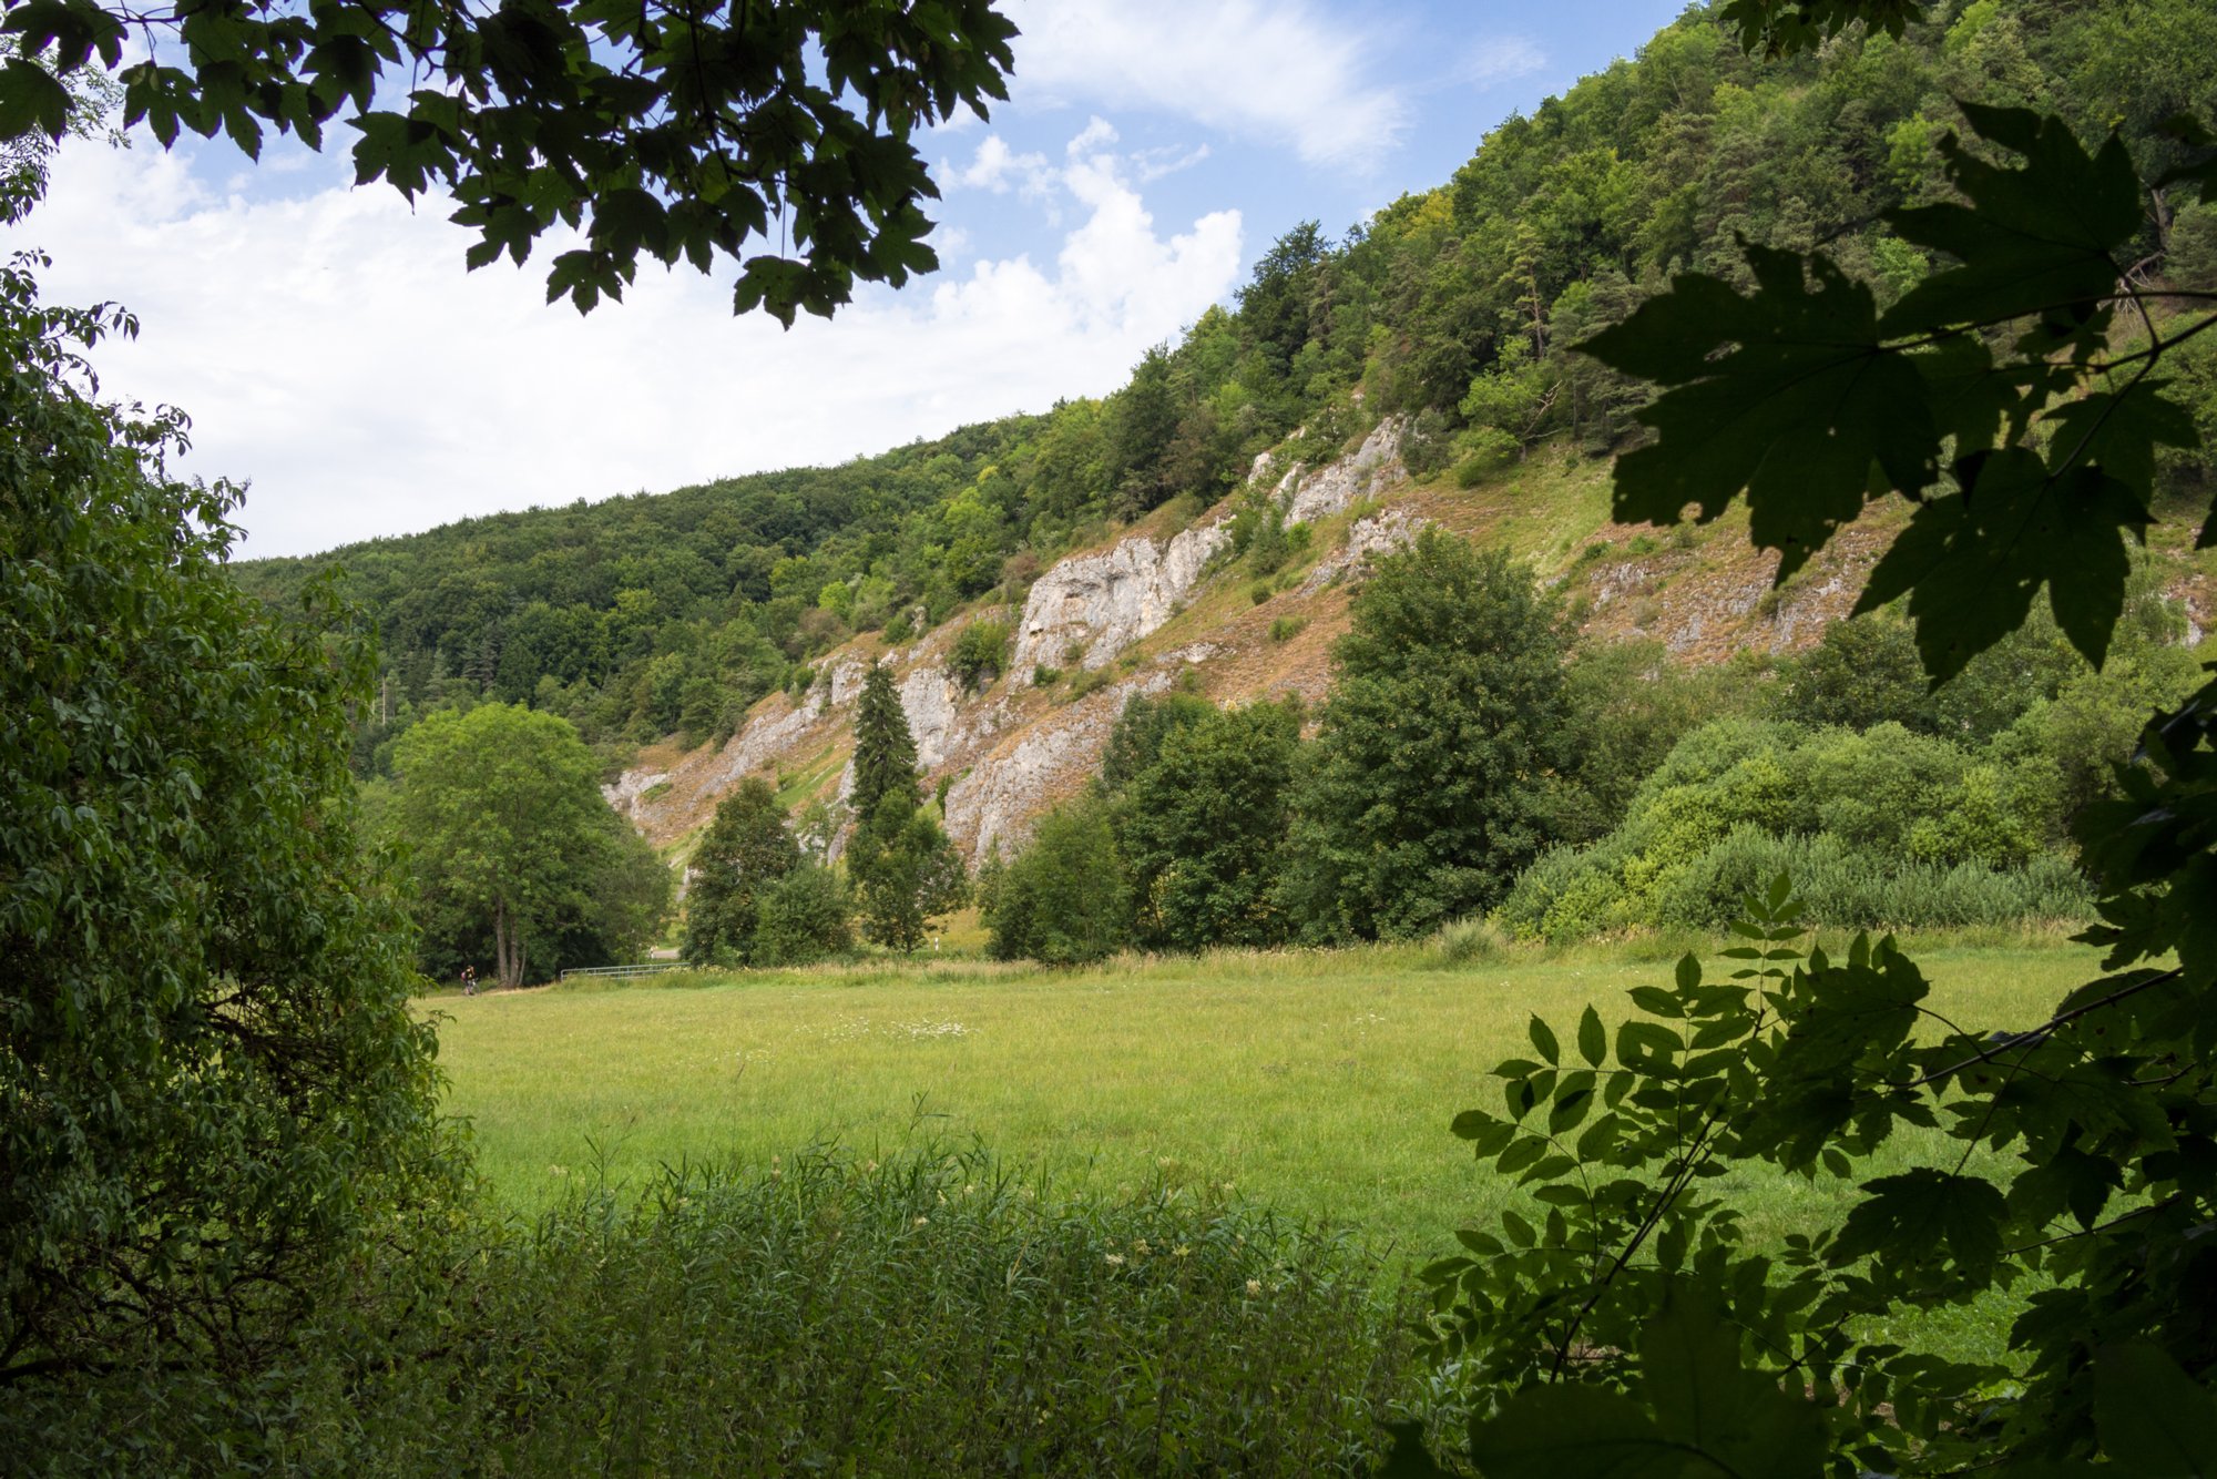
[[2124, 532], [2148, 510], [2099, 468], [2051, 477], [2037, 452], [1973, 459], [1966, 490], [1933, 499], [1871, 570], [1856, 614], [1907, 594], [1933, 685], [2015, 632], [2040, 588], [2071, 645], [2099, 665], [2124, 612]]

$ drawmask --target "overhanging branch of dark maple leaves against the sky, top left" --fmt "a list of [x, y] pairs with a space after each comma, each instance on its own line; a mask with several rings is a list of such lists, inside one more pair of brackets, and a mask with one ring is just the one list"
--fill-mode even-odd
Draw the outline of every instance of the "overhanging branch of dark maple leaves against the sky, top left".
[[[989, 0], [4, 0], [0, 33], [16, 49], [0, 142], [62, 137], [67, 86], [93, 67], [164, 146], [191, 129], [246, 155], [270, 131], [321, 149], [344, 122], [361, 184], [452, 193], [472, 268], [574, 239], [548, 302], [583, 313], [623, 297], [641, 255], [703, 273], [729, 257], [734, 310], [791, 324], [845, 304], [856, 277], [900, 286], [938, 266], [913, 137], [1007, 98], [1015, 27]], [[131, 42], [146, 55], [126, 60]]]

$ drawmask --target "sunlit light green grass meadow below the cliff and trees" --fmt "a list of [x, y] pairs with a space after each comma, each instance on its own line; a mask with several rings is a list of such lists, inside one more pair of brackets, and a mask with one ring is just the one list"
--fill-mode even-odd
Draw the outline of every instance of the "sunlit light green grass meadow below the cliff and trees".
[[[1924, 940], [1955, 1022], [2026, 1027], [2093, 951]], [[1714, 960], [1714, 949], [1703, 951]], [[1086, 971], [918, 962], [654, 985], [441, 996], [450, 1111], [517, 1211], [572, 1177], [641, 1184], [661, 1162], [767, 1166], [816, 1142], [860, 1153], [982, 1140], [1064, 1193], [1155, 1180], [1348, 1226], [1394, 1262], [1452, 1251], [1510, 1195], [1448, 1120], [1496, 1106], [1525, 1020], [1667, 978], [1674, 951], [1508, 949], [1450, 967], [1428, 947], [1124, 960]], [[1723, 962], [1716, 962], [1718, 967]], [[1565, 1033], [1567, 1038], [1567, 1033]], [[1880, 1171], [1913, 1146], [1889, 1146]], [[1845, 1184], [1723, 1186], [1774, 1237], [1838, 1215]]]

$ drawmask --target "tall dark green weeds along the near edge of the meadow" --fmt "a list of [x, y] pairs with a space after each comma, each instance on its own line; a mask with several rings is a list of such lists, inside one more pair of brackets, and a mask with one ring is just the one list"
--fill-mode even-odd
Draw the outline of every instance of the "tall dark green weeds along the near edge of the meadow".
[[1359, 1475], [1412, 1379], [1348, 1244], [978, 1151], [588, 1184], [454, 1242], [304, 1366], [11, 1393], [0, 1432], [71, 1472]]

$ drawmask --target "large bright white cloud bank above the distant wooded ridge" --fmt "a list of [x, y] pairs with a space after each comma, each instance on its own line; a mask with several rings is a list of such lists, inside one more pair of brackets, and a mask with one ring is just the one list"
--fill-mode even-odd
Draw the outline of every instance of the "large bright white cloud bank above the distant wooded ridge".
[[645, 266], [623, 304], [581, 319], [545, 306], [545, 253], [463, 273], [470, 237], [441, 202], [215, 195], [151, 146], [69, 146], [7, 246], [53, 253], [51, 302], [140, 315], [135, 344], [98, 355], [106, 392], [184, 406], [186, 470], [251, 479], [246, 552], [288, 554], [840, 461], [1106, 392], [1239, 273], [1237, 211], [1164, 237], [1131, 173], [1106, 153], [1058, 171], [1075, 204], [1049, 271], [980, 259], [791, 333], [734, 319], [729, 271]]

